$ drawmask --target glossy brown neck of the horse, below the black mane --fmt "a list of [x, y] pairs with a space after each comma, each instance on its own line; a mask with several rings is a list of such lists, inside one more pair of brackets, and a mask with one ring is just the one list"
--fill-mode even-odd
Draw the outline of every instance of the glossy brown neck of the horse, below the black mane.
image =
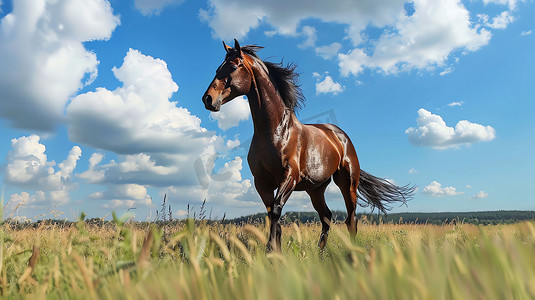
[[253, 67], [255, 80], [247, 94], [255, 134], [279, 135], [281, 128], [288, 128], [289, 124], [299, 122], [295, 114], [286, 107], [279, 93], [269, 79], [269, 75]]

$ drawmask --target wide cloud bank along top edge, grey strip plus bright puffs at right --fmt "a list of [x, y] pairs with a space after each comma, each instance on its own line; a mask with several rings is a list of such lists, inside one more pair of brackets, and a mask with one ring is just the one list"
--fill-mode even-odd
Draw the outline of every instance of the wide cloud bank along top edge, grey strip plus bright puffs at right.
[[[514, 6], [513, 1], [503, 5]], [[488, 44], [491, 33], [480, 23], [470, 19], [470, 12], [460, 0], [416, 0], [411, 11], [406, 1], [246, 1], [210, 0], [209, 8], [201, 9], [199, 16], [211, 28], [214, 37], [243, 38], [261, 24], [273, 30], [269, 36], [282, 34], [306, 36], [301, 47], [312, 47], [320, 32], [304, 20], [316, 19], [324, 23], [343, 24], [345, 39], [353, 49], [340, 53], [341, 44], [331, 43], [315, 48], [318, 55], [331, 58], [337, 55], [343, 75], [359, 75], [364, 69], [375, 69], [393, 74], [411, 69], [444, 68], [451, 53], [457, 50], [471, 52]], [[280, 9], [284, 6], [285, 9]], [[497, 19], [497, 23], [499, 20]], [[382, 32], [370, 37], [370, 27]]]

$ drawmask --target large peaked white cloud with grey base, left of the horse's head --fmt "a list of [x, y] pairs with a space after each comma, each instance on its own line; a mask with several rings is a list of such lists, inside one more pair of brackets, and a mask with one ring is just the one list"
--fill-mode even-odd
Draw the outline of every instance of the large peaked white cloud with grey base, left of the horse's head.
[[72, 141], [120, 154], [186, 154], [201, 153], [216, 139], [169, 100], [178, 86], [163, 60], [130, 49], [113, 73], [122, 87], [80, 94], [67, 107]]

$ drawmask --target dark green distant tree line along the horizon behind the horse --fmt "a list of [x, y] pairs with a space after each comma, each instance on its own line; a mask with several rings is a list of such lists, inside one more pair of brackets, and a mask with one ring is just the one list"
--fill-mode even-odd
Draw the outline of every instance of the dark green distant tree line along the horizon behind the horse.
[[[225, 220], [224, 223], [259, 223], [264, 222], [267, 214], [254, 214], [235, 219]], [[342, 211], [333, 212], [333, 220], [343, 222], [347, 214]], [[526, 220], [535, 220], [535, 211], [503, 210], [478, 212], [437, 212], [437, 213], [392, 213], [392, 214], [357, 214], [361, 221], [377, 223], [405, 223], [405, 224], [444, 224], [470, 223], [480, 225], [510, 224]], [[288, 212], [282, 217], [283, 222], [311, 223], [319, 222], [316, 212]]]

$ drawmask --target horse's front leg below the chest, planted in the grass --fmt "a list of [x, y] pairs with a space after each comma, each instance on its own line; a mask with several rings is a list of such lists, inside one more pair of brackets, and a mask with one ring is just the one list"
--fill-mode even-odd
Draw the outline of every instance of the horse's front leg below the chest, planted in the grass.
[[284, 204], [292, 194], [297, 185], [297, 178], [288, 168], [285, 172], [284, 180], [281, 182], [281, 185], [277, 189], [277, 194], [273, 201], [273, 207], [268, 208], [268, 216], [271, 222], [271, 233], [269, 237], [269, 242], [267, 249], [274, 251], [281, 251], [281, 236], [282, 230], [280, 225], [280, 217], [282, 215], [282, 208]]

